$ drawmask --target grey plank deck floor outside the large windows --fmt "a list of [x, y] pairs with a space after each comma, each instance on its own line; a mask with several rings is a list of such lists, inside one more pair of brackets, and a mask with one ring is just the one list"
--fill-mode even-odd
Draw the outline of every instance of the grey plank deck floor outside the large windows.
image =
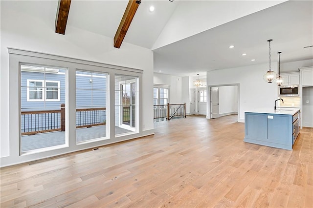
[[[115, 126], [115, 134], [131, 132]], [[106, 125], [76, 129], [76, 142], [83, 142], [106, 136]], [[22, 136], [22, 152], [65, 144], [65, 131], [54, 131]]]

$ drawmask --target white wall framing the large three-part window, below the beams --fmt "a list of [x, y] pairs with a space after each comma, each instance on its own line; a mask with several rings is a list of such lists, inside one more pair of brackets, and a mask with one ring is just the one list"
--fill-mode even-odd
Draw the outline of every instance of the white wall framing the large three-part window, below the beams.
[[[9, 156], [9, 56], [7, 47], [38, 51], [65, 57], [102, 62], [144, 70], [143, 130], [153, 125], [153, 52], [123, 42], [113, 48], [113, 39], [67, 26], [66, 35], [55, 33], [57, 1], [40, 1], [45, 11], [37, 11], [38, 1], [0, 1], [1, 4], [1, 70], [0, 70], [0, 156]], [[18, 84], [18, 83], [16, 83]]]

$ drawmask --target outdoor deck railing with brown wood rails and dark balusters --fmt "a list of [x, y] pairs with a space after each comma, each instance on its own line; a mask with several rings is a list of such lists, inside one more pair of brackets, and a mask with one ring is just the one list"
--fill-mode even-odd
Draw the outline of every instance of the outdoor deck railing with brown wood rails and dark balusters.
[[[76, 109], [76, 128], [106, 124], [106, 107]], [[22, 111], [22, 135], [65, 131], [65, 104], [60, 109]]]

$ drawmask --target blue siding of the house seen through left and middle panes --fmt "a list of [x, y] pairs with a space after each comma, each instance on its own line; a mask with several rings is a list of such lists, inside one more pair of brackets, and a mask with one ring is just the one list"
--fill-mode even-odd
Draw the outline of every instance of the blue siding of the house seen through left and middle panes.
[[[107, 78], [103, 74], [95, 74], [91, 78], [89, 72], [77, 71], [76, 76], [76, 106], [77, 108], [106, 107]], [[92, 79], [92, 80], [91, 80]], [[27, 101], [27, 80], [59, 81], [60, 101]], [[91, 82], [90, 82], [91, 80]], [[21, 108], [22, 111], [56, 110], [65, 104], [65, 73], [21, 73]], [[87, 111], [86, 111], [87, 112]], [[61, 127], [61, 114], [29, 114], [21, 116], [22, 132], [39, 131]], [[89, 111], [89, 113], [76, 112], [76, 125], [89, 125], [90, 123], [106, 122], [106, 112]], [[27, 125], [28, 124], [28, 125]]]

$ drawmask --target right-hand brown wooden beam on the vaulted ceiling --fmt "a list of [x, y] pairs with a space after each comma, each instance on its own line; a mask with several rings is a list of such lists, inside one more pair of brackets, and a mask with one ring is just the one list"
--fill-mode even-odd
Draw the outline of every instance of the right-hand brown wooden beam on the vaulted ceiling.
[[125, 38], [127, 30], [132, 23], [134, 15], [137, 11], [137, 8], [141, 0], [129, 0], [127, 7], [125, 9], [123, 18], [117, 28], [117, 31], [114, 36], [114, 47], [119, 48]]

